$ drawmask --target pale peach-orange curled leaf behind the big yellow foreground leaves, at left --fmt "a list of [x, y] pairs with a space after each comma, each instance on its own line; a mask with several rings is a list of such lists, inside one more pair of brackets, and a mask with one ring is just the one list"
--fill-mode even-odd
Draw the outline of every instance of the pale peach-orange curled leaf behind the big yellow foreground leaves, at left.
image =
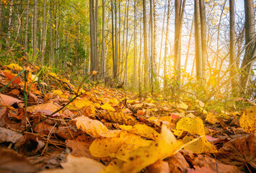
[[84, 130], [87, 134], [93, 137], [100, 137], [100, 133], [107, 131], [105, 125], [98, 120], [92, 120], [89, 117], [76, 117], [76, 128]]

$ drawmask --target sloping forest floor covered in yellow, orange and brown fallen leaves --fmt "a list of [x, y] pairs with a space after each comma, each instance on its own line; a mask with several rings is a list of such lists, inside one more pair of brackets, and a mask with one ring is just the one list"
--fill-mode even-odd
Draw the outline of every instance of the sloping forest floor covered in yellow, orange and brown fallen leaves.
[[200, 100], [74, 86], [50, 68], [0, 67], [0, 172], [256, 170], [250, 100], [235, 100], [247, 110], [217, 113]]

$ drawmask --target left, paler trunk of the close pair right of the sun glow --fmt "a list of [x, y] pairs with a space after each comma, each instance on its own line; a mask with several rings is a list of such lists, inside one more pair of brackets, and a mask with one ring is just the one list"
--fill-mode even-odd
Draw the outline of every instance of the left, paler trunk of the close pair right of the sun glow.
[[202, 40], [200, 25], [200, 1], [195, 0], [195, 61], [196, 76], [198, 80], [203, 79], [203, 61], [202, 61]]

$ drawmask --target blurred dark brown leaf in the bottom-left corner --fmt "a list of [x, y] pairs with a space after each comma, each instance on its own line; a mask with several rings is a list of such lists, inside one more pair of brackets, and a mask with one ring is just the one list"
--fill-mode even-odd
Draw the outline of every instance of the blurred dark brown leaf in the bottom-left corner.
[[10, 149], [0, 149], [0, 172], [37, 172], [24, 156]]

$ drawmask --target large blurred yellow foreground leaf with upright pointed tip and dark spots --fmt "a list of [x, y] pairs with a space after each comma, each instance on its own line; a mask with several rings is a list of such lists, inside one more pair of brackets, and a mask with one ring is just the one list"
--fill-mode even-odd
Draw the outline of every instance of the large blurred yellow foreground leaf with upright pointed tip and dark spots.
[[167, 126], [162, 126], [162, 132], [156, 141], [149, 146], [139, 147], [127, 154], [127, 160], [118, 161], [116, 164], [110, 162], [102, 172], [140, 172], [141, 169], [154, 164], [159, 159], [164, 159], [167, 156], [175, 154], [182, 143], [176, 141], [172, 132], [167, 129]]

